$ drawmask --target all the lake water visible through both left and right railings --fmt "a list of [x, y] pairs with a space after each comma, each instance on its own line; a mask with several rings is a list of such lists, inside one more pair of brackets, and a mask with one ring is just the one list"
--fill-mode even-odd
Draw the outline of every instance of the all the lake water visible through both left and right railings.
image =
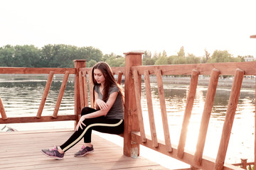
[[[57, 101], [63, 77], [57, 75], [50, 87], [46, 105], [42, 115], [52, 115]], [[24, 74], [0, 74], [0, 97], [8, 117], [36, 116], [43, 91], [46, 86], [47, 75]], [[74, 113], [74, 83], [73, 77], [68, 79], [59, 115]], [[189, 82], [188, 82], [189, 83]], [[194, 101], [186, 149], [195, 151], [200, 128], [203, 106], [208, 86], [198, 86]], [[218, 145], [223, 128], [223, 120], [228, 106], [230, 87], [218, 87], [213, 111], [208, 126], [206, 146], [203, 154], [215, 158], [218, 152]], [[166, 98], [166, 109], [169, 121], [171, 143], [178, 145], [179, 134], [183, 121], [183, 113], [186, 106], [186, 94], [188, 84], [164, 84], [164, 95]], [[151, 94], [154, 103], [154, 118], [156, 121], [157, 136], [164, 140], [164, 133], [161, 124], [161, 111], [158, 98], [157, 84], [151, 83]], [[147, 115], [144, 84], [142, 84], [142, 110], [144, 114], [144, 126], [146, 133], [150, 134], [149, 118]], [[74, 128], [73, 121], [54, 123], [24, 123], [9, 124], [16, 130], [42, 130], [58, 128]], [[254, 126], [255, 126], [255, 89], [242, 89], [238, 101], [238, 109], [235, 114], [232, 134], [228, 147], [226, 162], [240, 162], [240, 158], [247, 158], [248, 162], [254, 160]], [[0, 128], [4, 125], [0, 125]]]

